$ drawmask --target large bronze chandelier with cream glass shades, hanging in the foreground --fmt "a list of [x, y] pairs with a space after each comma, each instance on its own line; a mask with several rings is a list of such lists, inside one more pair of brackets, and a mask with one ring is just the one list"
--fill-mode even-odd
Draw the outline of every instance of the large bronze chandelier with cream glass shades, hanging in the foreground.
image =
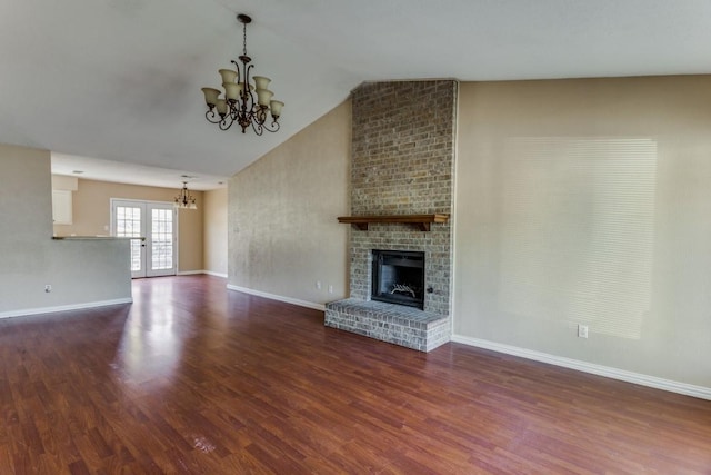
[[[258, 136], [264, 130], [276, 132], [279, 130], [279, 116], [283, 102], [271, 100], [274, 95], [267, 89], [271, 79], [263, 76], [254, 76], [254, 85], [250, 81], [250, 71], [254, 65], [250, 65], [251, 58], [247, 56], [247, 24], [252, 21], [247, 14], [238, 14], [237, 20], [242, 23], [243, 47], [239, 60], [232, 61], [236, 70], [220, 69], [218, 72], [222, 77], [222, 88], [224, 97], [219, 89], [202, 88], [208, 111], [204, 117], [208, 121], [217, 123], [220, 130], [227, 130], [237, 122], [242, 128], [242, 133], [251, 125]], [[257, 100], [254, 100], [254, 92]], [[217, 115], [216, 115], [217, 110]], [[271, 115], [271, 123], [267, 121], [267, 112]], [[219, 116], [219, 117], [218, 117]]]

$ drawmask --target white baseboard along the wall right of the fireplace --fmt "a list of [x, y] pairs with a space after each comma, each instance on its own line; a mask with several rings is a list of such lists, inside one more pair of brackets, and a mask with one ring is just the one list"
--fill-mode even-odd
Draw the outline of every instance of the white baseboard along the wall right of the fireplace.
[[653, 387], [655, 389], [663, 389], [671, 393], [678, 393], [685, 396], [693, 396], [701, 399], [711, 400], [711, 388], [709, 387], [678, 383], [670, 379], [658, 378], [655, 376], [648, 376], [639, 373], [628, 372], [624, 369], [595, 365], [593, 363], [581, 362], [579, 359], [564, 358], [562, 356], [549, 355], [547, 353], [534, 352], [532, 349], [519, 348], [517, 346], [503, 345], [500, 343], [479, 338], [470, 338], [461, 335], [452, 335], [451, 340], [454, 343], [475, 346], [478, 348], [491, 349], [492, 352], [504, 353], [507, 355], [520, 356], [522, 358], [549, 363], [551, 365], [562, 366], [564, 368], [577, 369], [579, 372], [591, 373], [598, 376], [620, 379], [628, 383]]

